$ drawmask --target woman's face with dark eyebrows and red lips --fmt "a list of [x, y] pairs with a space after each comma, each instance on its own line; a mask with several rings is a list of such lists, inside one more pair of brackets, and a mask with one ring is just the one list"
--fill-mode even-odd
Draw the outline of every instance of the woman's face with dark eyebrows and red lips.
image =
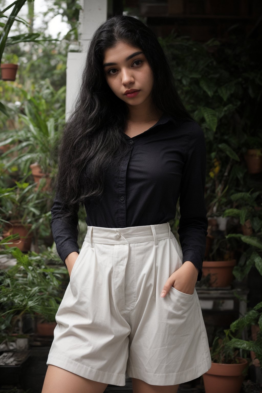
[[[127, 105], [150, 101], [153, 73], [141, 49], [120, 42], [104, 52], [103, 68], [108, 86]], [[126, 95], [126, 90], [131, 89], [139, 92], [133, 96]]]

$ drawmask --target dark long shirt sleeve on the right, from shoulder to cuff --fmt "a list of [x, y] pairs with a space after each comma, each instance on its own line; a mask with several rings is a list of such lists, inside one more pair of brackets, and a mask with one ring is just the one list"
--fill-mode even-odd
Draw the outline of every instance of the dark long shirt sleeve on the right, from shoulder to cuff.
[[207, 236], [205, 206], [206, 145], [201, 127], [194, 123], [188, 140], [186, 162], [180, 189], [179, 241], [183, 263], [191, 261], [198, 268], [197, 281], [202, 277]]

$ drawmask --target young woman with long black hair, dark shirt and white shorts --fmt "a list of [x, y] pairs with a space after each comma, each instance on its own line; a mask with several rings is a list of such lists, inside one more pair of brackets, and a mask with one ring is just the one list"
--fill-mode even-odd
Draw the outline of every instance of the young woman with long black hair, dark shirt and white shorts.
[[[211, 367], [195, 289], [207, 235], [203, 131], [150, 28], [115, 16], [90, 41], [60, 145], [51, 226], [70, 283], [42, 393], [176, 393]], [[179, 239], [169, 221], [180, 198]], [[79, 253], [78, 210], [87, 233]]]

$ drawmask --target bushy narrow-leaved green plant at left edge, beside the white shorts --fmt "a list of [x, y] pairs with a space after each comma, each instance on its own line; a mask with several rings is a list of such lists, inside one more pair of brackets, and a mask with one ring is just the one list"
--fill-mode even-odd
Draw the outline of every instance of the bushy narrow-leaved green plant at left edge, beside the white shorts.
[[[18, 334], [23, 334], [25, 314], [31, 315], [33, 320], [40, 316], [41, 322], [47, 321], [53, 329], [62, 300], [60, 277], [66, 268], [51, 268], [42, 255], [31, 251], [23, 254], [17, 247], [11, 253], [16, 258], [16, 265], [2, 270], [0, 276], [2, 330], [11, 335], [18, 329]], [[39, 334], [39, 329], [37, 332]]]

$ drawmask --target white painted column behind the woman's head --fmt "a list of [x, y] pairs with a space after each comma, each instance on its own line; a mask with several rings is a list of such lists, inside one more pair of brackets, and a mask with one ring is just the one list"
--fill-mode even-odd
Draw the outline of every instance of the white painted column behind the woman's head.
[[81, 52], [68, 52], [66, 62], [66, 120], [75, 106], [86, 52], [97, 27], [107, 19], [107, 0], [81, 0], [79, 42]]

